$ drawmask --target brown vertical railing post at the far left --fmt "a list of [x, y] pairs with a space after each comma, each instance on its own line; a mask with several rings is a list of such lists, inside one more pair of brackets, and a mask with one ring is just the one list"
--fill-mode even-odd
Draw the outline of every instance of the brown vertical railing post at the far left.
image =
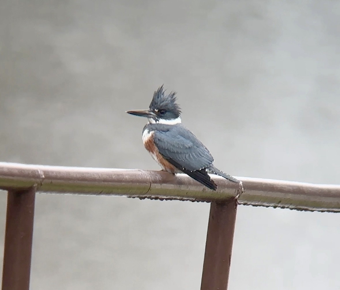
[[8, 190], [2, 290], [28, 290], [35, 188]]

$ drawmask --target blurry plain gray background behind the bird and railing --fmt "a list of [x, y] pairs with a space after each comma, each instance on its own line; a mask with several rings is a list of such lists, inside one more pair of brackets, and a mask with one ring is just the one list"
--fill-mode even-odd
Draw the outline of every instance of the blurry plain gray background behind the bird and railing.
[[[339, 183], [339, 1], [0, 4], [1, 161], [158, 170], [125, 110], [164, 83], [222, 170]], [[208, 212], [39, 194], [32, 289], [199, 289]], [[229, 288], [340, 289], [339, 224], [240, 206]]]

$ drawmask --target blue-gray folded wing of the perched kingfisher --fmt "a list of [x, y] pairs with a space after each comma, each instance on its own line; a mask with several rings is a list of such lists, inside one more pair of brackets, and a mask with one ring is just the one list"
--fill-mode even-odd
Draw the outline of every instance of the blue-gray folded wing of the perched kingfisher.
[[165, 158], [190, 171], [209, 167], [214, 158], [197, 137], [181, 124], [155, 131], [154, 142]]

